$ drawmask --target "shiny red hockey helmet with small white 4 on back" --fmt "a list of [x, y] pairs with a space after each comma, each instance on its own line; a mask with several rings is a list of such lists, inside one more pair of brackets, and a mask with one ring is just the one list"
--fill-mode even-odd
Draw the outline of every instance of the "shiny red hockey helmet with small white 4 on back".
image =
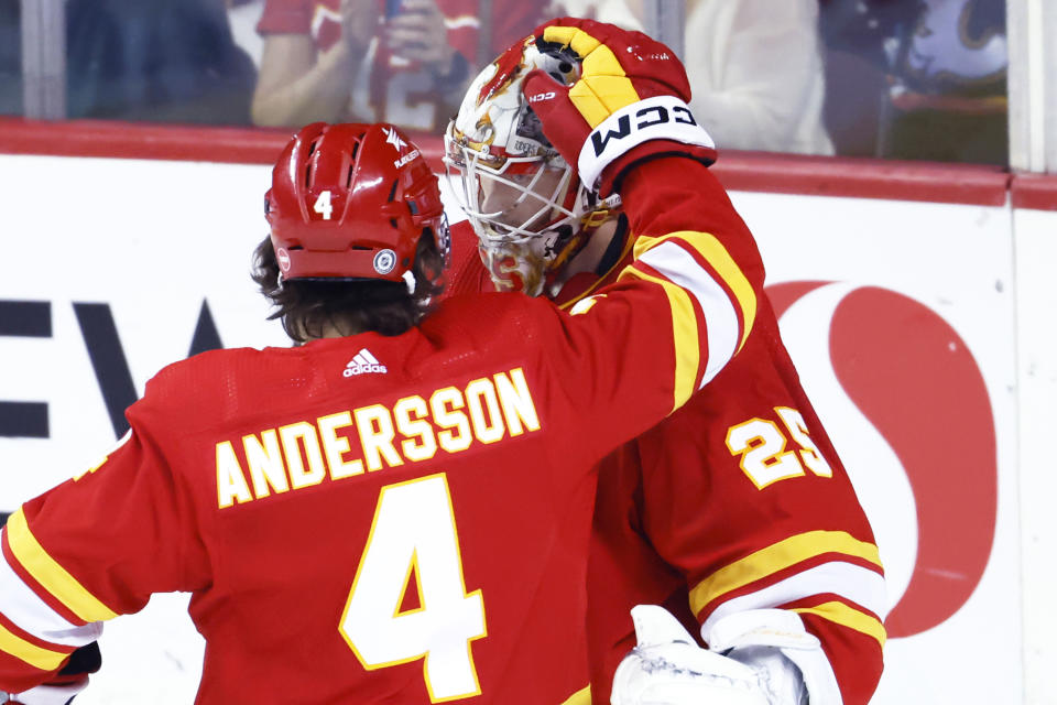
[[[414, 290], [423, 237], [448, 262], [437, 177], [391, 124], [302, 128], [275, 163], [264, 210], [284, 280], [382, 279]], [[436, 281], [443, 271], [425, 274]]]

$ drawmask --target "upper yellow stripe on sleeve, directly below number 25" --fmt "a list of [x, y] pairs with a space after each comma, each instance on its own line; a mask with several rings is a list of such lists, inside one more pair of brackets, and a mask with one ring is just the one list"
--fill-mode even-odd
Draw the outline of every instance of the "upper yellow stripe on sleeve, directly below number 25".
[[872, 543], [859, 541], [844, 531], [808, 531], [771, 544], [716, 571], [690, 590], [690, 608], [697, 615], [720, 595], [824, 553], [842, 553], [881, 566], [878, 546]]

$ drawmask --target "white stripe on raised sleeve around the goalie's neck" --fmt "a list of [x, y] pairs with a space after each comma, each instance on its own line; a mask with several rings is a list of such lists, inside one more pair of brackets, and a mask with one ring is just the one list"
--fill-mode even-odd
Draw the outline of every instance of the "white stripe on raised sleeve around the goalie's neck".
[[727, 366], [738, 348], [738, 312], [733, 302], [711, 276], [700, 278], [700, 264], [676, 242], [662, 242], [639, 259], [690, 292], [701, 306], [708, 335], [708, 362], [701, 378], [705, 386]]

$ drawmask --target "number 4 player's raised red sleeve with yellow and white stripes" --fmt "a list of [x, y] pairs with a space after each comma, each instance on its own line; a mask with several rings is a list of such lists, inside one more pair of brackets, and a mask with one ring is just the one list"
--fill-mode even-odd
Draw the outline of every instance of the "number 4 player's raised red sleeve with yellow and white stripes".
[[634, 258], [543, 340], [565, 338], [571, 351], [546, 357], [559, 378], [548, 397], [570, 401], [568, 423], [585, 426], [579, 435], [612, 442], [603, 451], [685, 404], [723, 369], [753, 325], [763, 284], [755, 243], [704, 165], [672, 156], [639, 165], [622, 198]]

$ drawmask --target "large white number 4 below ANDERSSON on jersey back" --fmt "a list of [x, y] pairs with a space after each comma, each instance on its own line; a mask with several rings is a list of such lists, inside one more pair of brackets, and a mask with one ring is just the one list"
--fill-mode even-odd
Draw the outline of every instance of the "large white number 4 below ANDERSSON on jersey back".
[[[418, 607], [401, 611], [407, 589]], [[434, 703], [480, 694], [471, 643], [487, 633], [484, 600], [466, 592], [444, 474], [382, 488], [338, 630], [369, 671], [424, 659]]]

